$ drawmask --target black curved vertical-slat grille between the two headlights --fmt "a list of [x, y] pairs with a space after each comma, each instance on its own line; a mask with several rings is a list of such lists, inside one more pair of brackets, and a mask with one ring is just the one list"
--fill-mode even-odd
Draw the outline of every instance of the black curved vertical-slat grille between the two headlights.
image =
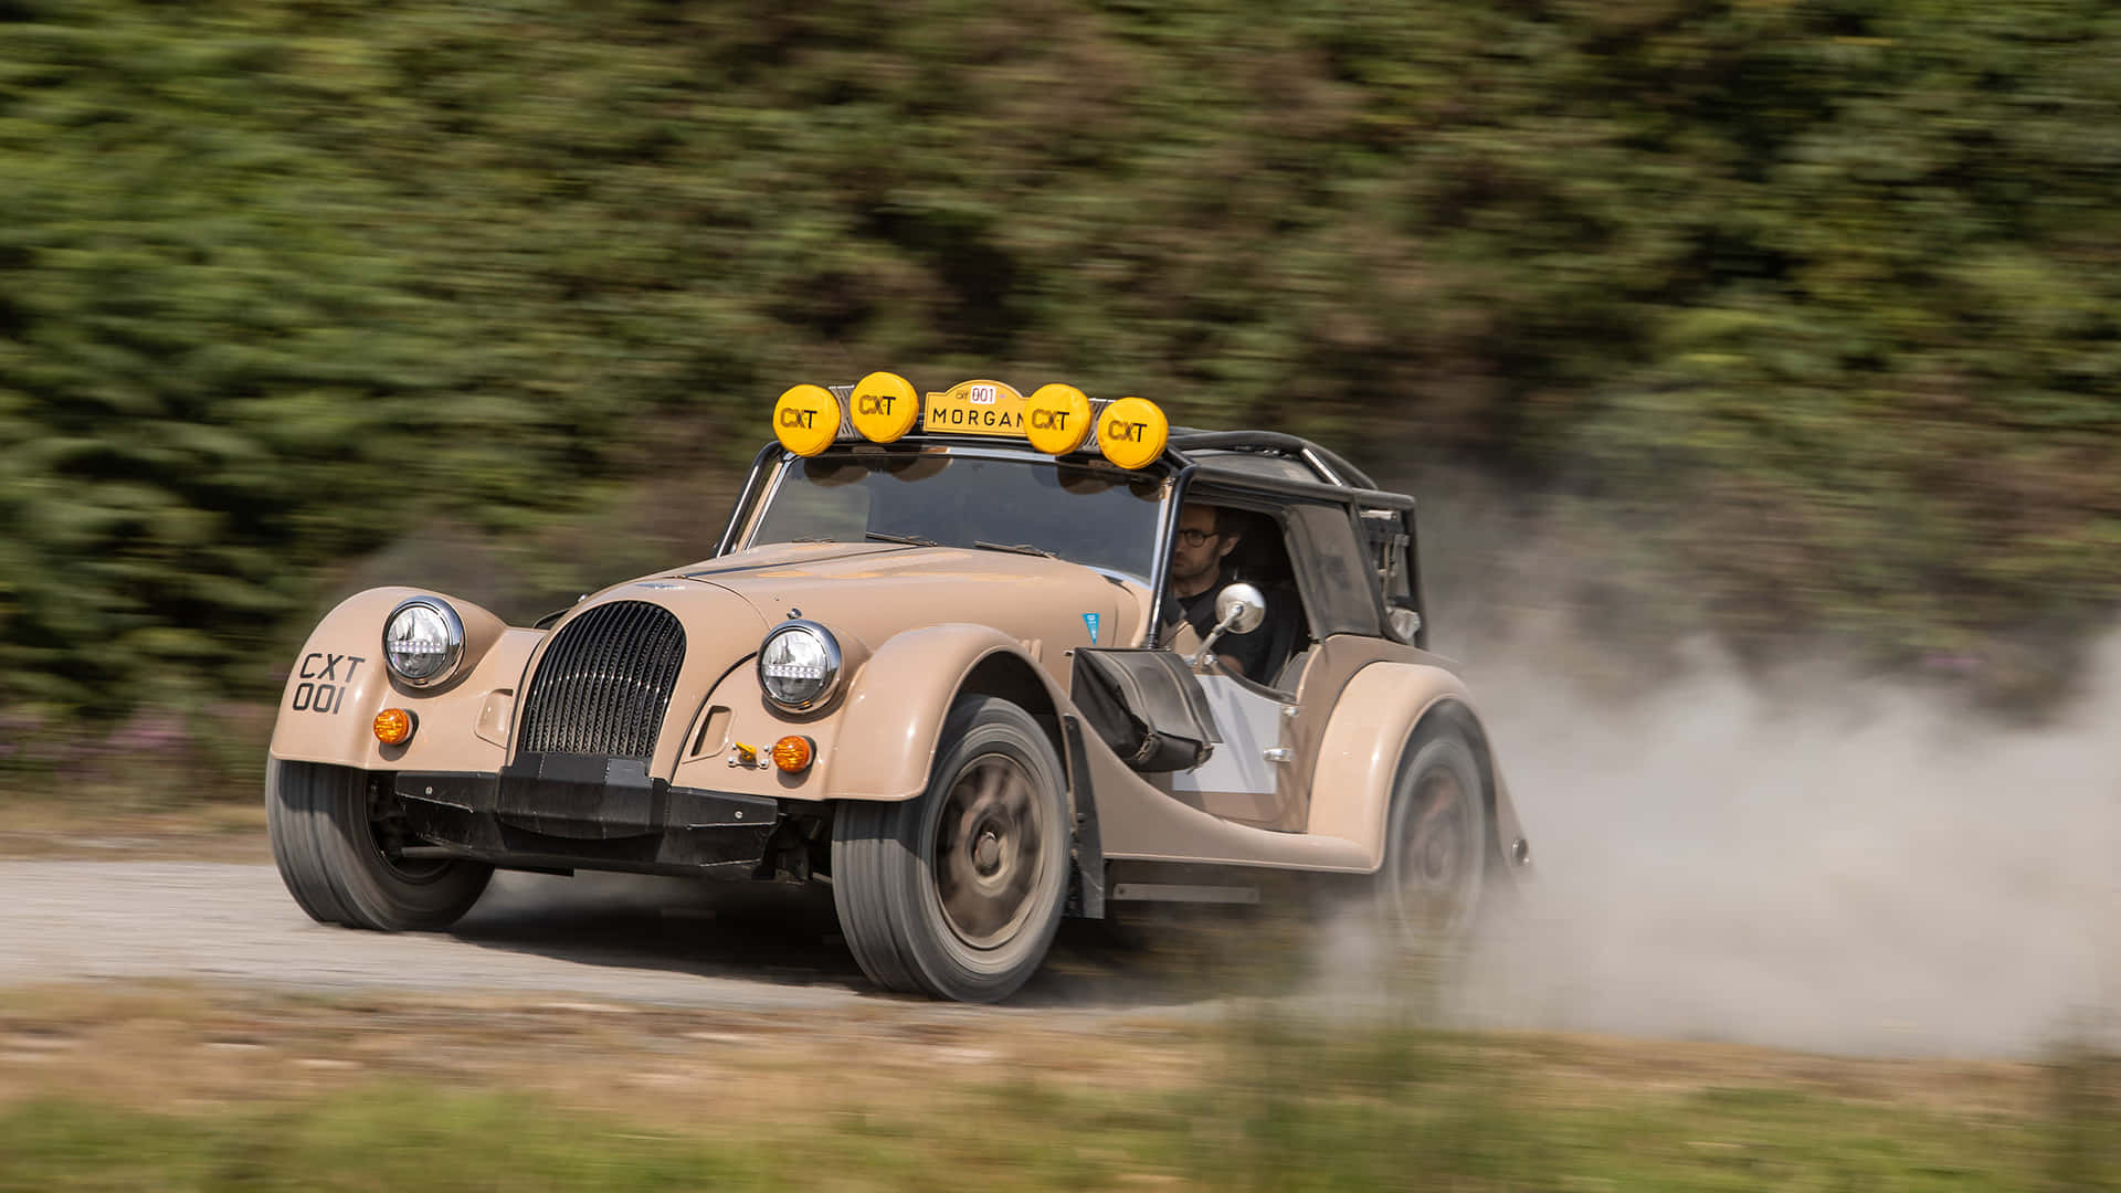
[[685, 626], [647, 601], [613, 601], [560, 626], [524, 696], [518, 754], [647, 760], [685, 662]]

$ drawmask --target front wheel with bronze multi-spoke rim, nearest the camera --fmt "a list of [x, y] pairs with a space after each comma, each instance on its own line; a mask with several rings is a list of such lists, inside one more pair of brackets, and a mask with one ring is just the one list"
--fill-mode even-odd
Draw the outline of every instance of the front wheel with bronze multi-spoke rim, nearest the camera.
[[944, 722], [927, 792], [844, 802], [831, 900], [884, 989], [997, 1002], [1039, 968], [1067, 902], [1067, 785], [1031, 715], [967, 696]]

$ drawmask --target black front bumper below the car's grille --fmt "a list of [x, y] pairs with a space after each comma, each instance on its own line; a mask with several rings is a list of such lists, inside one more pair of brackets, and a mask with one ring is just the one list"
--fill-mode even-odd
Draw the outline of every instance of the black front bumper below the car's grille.
[[781, 824], [764, 796], [672, 788], [638, 758], [524, 754], [501, 773], [401, 771], [407, 828], [520, 868], [757, 870]]

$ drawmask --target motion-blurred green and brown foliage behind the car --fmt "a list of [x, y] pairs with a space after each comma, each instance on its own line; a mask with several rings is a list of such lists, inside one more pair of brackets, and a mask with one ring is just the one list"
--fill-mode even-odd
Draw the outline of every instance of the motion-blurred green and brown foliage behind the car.
[[2104, 0], [0, 0], [0, 707], [704, 554], [872, 367], [1480, 461], [1741, 650], [2074, 635], [2117, 59]]

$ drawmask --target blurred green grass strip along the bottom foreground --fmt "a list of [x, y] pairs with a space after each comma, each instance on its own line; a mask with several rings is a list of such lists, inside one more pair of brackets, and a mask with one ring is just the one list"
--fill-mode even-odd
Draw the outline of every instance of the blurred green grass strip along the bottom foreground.
[[[683, 1025], [658, 1021], [632, 1042], [638, 1064], [677, 1059], [666, 1027]], [[448, 1021], [433, 1030], [456, 1034]], [[999, 1051], [971, 1072], [940, 1055], [906, 1066], [891, 1030], [878, 1023], [867, 1049], [834, 1049], [842, 1074], [817, 1055], [761, 1049], [800, 1064], [766, 1055], [679, 1102], [653, 1087], [581, 1097], [581, 1085], [503, 1080], [479, 1061], [297, 1095], [265, 1095], [276, 1087], [261, 1083], [259, 1095], [223, 1091], [180, 1110], [78, 1087], [36, 1093], [0, 1106], [0, 1189], [2059, 1191], [2121, 1180], [2121, 1064], [2096, 1053], [1998, 1070], [2015, 1095], [1989, 1097], [1977, 1074], [1932, 1097], [1920, 1078], [1879, 1085], [1875, 1061], [1777, 1068], [1746, 1057], [1790, 1055], [1707, 1049], [1729, 1068], [1722, 1078], [1661, 1080], [1661, 1059], [1684, 1053], [1659, 1044], [1616, 1080], [1623, 1042], [1287, 1019], [1167, 1040], [1158, 1074], [1139, 1080], [1107, 1055], [1103, 1076], [1082, 1080], [1050, 1049]], [[1116, 1034], [1111, 1051], [1126, 1040]], [[1181, 1080], [1169, 1078], [1173, 1049], [1190, 1053]], [[863, 1076], [882, 1066], [897, 1070], [897, 1093]]]

